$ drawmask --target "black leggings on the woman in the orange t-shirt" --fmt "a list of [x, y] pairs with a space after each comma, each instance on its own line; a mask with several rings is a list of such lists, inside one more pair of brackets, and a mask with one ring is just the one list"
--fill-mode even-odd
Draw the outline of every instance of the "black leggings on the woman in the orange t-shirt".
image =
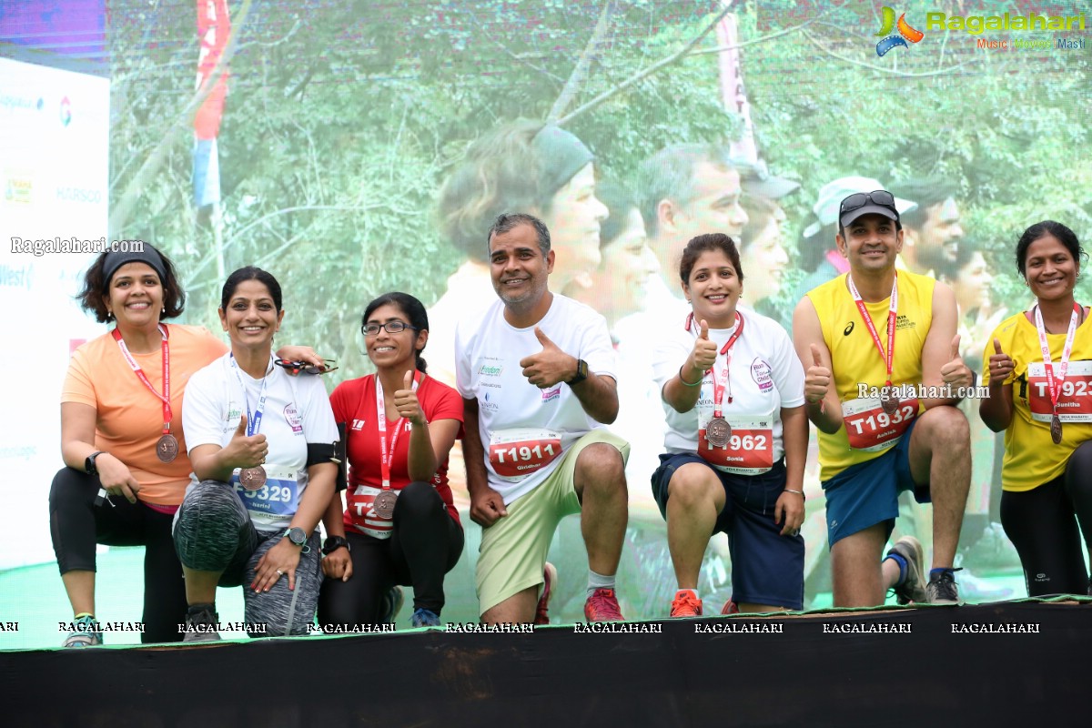
[[[144, 547], [144, 633], [141, 642], [180, 642], [186, 621], [186, 581], [170, 537], [169, 513], [121, 496], [95, 505], [97, 475], [70, 467], [54, 476], [49, 489], [49, 535], [61, 574], [96, 571], [95, 544]], [[114, 506], [110, 506], [114, 503]]]

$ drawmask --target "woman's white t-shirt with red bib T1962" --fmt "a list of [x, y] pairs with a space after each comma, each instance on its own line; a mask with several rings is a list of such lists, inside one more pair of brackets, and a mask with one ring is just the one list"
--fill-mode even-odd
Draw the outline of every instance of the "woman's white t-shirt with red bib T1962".
[[[705, 372], [698, 404], [690, 411], [678, 413], [662, 402], [667, 419], [664, 447], [668, 453], [698, 452], [705, 457], [705, 453], [699, 451], [700, 444], [707, 452], [719, 453], [713, 460], [705, 457], [715, 467], [755, 475], [769, 469], [785, 453], [781, 409], [804, 404], [804, 367], [781, 324], [749, 310], [738, 310], [737, 314], [737, 321], [744, 321], [743, 334], [728, 354], [719, 355], [713, 369]], [[656, 346], [653, 377], [661, 392], [693, 350], [699, 327], [691, 324], [687, 331], [685, 323], [680, 320], [669, 327]], [[734, 331], [734, 327], [710, 329], [709, 338], [720, 350]], [[728, 368], [724, 377], [726, 360]], [[722, 416], [733, 430], [732, 442], [720, 449], [711, 446], [704, 437], [699, 441], [699, 431], [704, 430], [714, 413], [714, 372], [723, 378]]]

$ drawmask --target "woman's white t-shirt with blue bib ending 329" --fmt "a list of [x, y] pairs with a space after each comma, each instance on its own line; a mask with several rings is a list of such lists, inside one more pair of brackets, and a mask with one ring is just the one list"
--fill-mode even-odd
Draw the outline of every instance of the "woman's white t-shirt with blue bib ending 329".
[[[314, 375], [289, 377], [270, 361], [265, 375], [265, 406], [253, 434], [264, 434], [270, 454], [263, 466], [265, 485], [246, 490], [239, 470], [232, 485], [247, 506], [258, 530], [285, 529], [299, 508], [307, 488], [307, 444], [329, 444], [337, 440], [337, 426], [322, 380]], [[246, 387], [246, 395], [244, 395]], [[190, 378], [182, 402], [182, 427], [190, 453], [199, 445], [226, 447], [247, 411], [250, 427], [257, 415], [262, 380], [236, 367], [226, 354]], [[197, 485], [191, 475], [190, 488]]]

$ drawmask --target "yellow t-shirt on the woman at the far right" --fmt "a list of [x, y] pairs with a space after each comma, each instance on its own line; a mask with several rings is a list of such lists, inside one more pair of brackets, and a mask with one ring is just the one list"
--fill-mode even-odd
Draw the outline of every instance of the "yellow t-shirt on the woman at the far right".
[[[1092, 439], [1092, 324], [1077, 329], [1069, 371], [1058, 397], [1061, 419], [1061, 443], [1051, 439], [1051, 394], [1043, 371], [1043, 351], [1038, 347], [1035, 324], [1021, 313], [1009, 317], [994, 330], [982, 357], [982, 383], [989, 384], [989, 357], [994, 339], [1012, 357], [1016, 369], [1005, 380], [1012, 384], [1012, 421], [1005, 431], [1005, 460], [1001, 465], [1001, 488], [1025, 491], [1057, 478], [1077, 445]], [[1057, 372], [1066, 334], [1047, 334], [1051, 360]], [[1087, 414], [1081, 414], [1083, 410]], [[1084, 418], [1087, 421], [1073, 421]]]

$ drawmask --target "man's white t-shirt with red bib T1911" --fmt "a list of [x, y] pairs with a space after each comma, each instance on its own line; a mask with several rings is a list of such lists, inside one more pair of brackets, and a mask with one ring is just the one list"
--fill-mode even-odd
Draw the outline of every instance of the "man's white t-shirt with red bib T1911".
[[[537, 326], [562, 351], [586, 361], [589, 371], [617, 378], [606, 320], [590, 307], [554, 294]], [[534, 326], [505, 321], [500, 299], [462, 320], [455, 332], [456, 387], [478, 402], [489, 487], [506, 504], [543, 482], [573, 442], [603, 427], [568, 384], [541, 390], [527, 382], [520, 361], [542, 350]]]

